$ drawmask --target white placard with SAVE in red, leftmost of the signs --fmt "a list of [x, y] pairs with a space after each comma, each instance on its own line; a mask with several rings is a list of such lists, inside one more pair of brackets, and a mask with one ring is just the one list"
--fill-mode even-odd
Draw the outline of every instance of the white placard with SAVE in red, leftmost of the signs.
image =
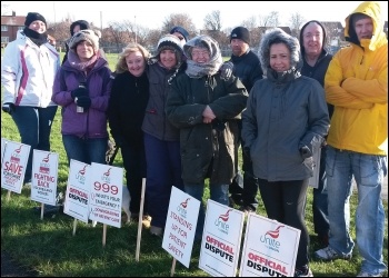
[[1, 162], [1, 187], [20, 193], [31, 146], [7, 141]]

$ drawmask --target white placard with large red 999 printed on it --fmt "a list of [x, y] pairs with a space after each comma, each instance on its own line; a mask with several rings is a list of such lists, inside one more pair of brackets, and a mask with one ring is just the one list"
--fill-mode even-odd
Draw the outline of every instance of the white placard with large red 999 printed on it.
[[88, 180], [89, 219], [120, 228], [123, 168], [92, 162]]

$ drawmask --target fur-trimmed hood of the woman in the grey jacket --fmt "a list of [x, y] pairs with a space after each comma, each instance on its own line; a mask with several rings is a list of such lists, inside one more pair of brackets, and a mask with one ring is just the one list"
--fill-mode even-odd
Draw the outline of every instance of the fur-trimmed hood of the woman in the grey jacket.
[[290, 50], [290, 67], [292, 70], [300, 71], [303, 64], [300, 52], [300, 43], [297, 38], [286, 33], [280, 28], [273, 28], [266, 31], [258, 50], [258, 57], [261, 62], [263, 75], [267, 76], [270, 69], [270, 46], [273, 43], [285, 43]]

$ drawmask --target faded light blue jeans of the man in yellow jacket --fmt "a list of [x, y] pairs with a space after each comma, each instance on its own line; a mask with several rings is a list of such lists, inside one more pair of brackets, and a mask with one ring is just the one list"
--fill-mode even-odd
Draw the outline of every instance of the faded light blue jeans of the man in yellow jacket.
[[355, 242], [349, 234], [351, 180], [358, 187], [356, 212], [357, 244], [362, 256], [362, 271], [380, 274], [387, 269], [382, 261], [385, 211], [381, 186], [387, 175], [386, 156], [340, 151], [328, 146], [327, 187], [329, 245], [339, 254], [352, 252]]

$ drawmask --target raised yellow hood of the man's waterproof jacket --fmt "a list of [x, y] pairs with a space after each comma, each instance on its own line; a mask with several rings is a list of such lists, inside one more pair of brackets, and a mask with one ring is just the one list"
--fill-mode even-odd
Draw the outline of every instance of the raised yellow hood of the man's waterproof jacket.
[[[363, 39], [362, 41], [358, 40], [357, 33], [352, 26], [352, 16], [356, 13], [363, 13], [372, 19], [373, 31], [371, 39]], [[387, 41], [387, 37], [383, 32], [383, 19], [381, 13], [381, 6], [378, 1], [366, 1], [357, 7], [357, 9], [351, 12], [346, 18], [345, 27], [345, 38], [347, 41], [352, 42], [357, 46], [368, 48], [371, 51], [375, 51], [379, 46]]]

